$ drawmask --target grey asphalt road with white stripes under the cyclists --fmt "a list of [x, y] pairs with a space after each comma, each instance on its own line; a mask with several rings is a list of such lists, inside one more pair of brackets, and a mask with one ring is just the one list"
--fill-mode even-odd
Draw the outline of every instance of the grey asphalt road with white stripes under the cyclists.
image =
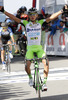
[[[48, 58], [48, 90], [41, 92], [41, 100], [68, 100], [68, 57]], [[0, 62], [0, 100], [38, 100], [35, 89], [28, 84], [23, 57], [17, 56], [12, 59], [10, 74], [2, 71], [1, 66]], [[33, 71], [33, 64], [31, 69]], [[42, 70], [43, 65], [40, 64], [40, 71]]]

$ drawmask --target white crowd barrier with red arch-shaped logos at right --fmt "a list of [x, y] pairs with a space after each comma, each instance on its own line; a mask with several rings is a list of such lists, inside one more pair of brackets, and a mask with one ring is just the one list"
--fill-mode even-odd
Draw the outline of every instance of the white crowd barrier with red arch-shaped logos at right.
[[56, 31], [53, 38], [49, 38], [49, 32], [45, 33], [44, 51], [47, 55], [68, 56], [68, 32]]

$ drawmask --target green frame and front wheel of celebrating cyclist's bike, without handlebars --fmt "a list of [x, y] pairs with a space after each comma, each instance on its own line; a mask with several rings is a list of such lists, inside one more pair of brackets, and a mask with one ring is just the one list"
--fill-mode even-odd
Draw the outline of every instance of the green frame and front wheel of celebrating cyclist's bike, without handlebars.
[[37, 60], [34, 61], [34, 67], [35, 67], [35, 72], [34, 72], [34, 86], [33, 87], [36, 89], [36, 92], [38, 92], [39, 100], [41, 100], [40, 90], [42, 90], [42, 80], [39, 73], [39, 64]]

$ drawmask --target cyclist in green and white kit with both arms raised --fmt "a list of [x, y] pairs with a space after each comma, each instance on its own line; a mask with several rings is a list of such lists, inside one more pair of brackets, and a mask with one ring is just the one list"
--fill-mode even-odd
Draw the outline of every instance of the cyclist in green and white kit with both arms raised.
[[[63, 10], [60, 10], [54, 14], [52, 14], [49, 18], [47, 19], [42, 19], [37, 21], [38, 17], [38, 12], [37, 9], [31, 8], [28, 11], [28, 16], [30, 21], [26, 20], [21, 20], [19, 18], [16, 18], [14, 15], [8, 13], [7, 11], [4, 10], [4, 7], [0, 6], [0, 11], [3, 12], [5, 15], [10, 17], [11, 19], [15, 20], [17, 23], [23, 23], [26, 27], [26, 32], [27, 32], [27, 53], [26, 53], [26, 58], [27, 59], [32, 59], [33, 58], [33, 52], [37, 53], [37, 56], [39, 58], [46, 56], [46, 53], [43, 51], [42, 46], [40, 44], [41, 42], [41, 25], [43, 22], [50, 22], [51, 20], [57, 18], [60, 14], [63, 13]], [[44, 64], [44, 80], [43, 80], [43, 86], [42, 89], [47, 89], [46, 86], [46, 81], [48, 77], [48, 71], [49, 71], [49, 61], [43, 59], [42, 63]], [[30, 69], [31, 62], [28, 60], [26, 62], [26, 72], [29, 76], [29, 84], [32, 86], [33, 85], [33, 79], [31, 75], [31, 69]]]

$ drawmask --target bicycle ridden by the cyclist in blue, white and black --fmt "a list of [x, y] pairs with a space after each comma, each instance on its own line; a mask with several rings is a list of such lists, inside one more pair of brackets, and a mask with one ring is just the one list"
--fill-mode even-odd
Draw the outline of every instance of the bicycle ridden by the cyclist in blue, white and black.
[[10, 59], [10, 54], [9, 54], [9, 45], [13, 45], [13, 44], [3, 44], [2, 46], [4, 47], [5, 49], [5, 64], [6, 64], [6, 70], [7, 72], [11, 72], [11, 67], [10, 67], [10, 62], [11, 62], [11, 59]]

